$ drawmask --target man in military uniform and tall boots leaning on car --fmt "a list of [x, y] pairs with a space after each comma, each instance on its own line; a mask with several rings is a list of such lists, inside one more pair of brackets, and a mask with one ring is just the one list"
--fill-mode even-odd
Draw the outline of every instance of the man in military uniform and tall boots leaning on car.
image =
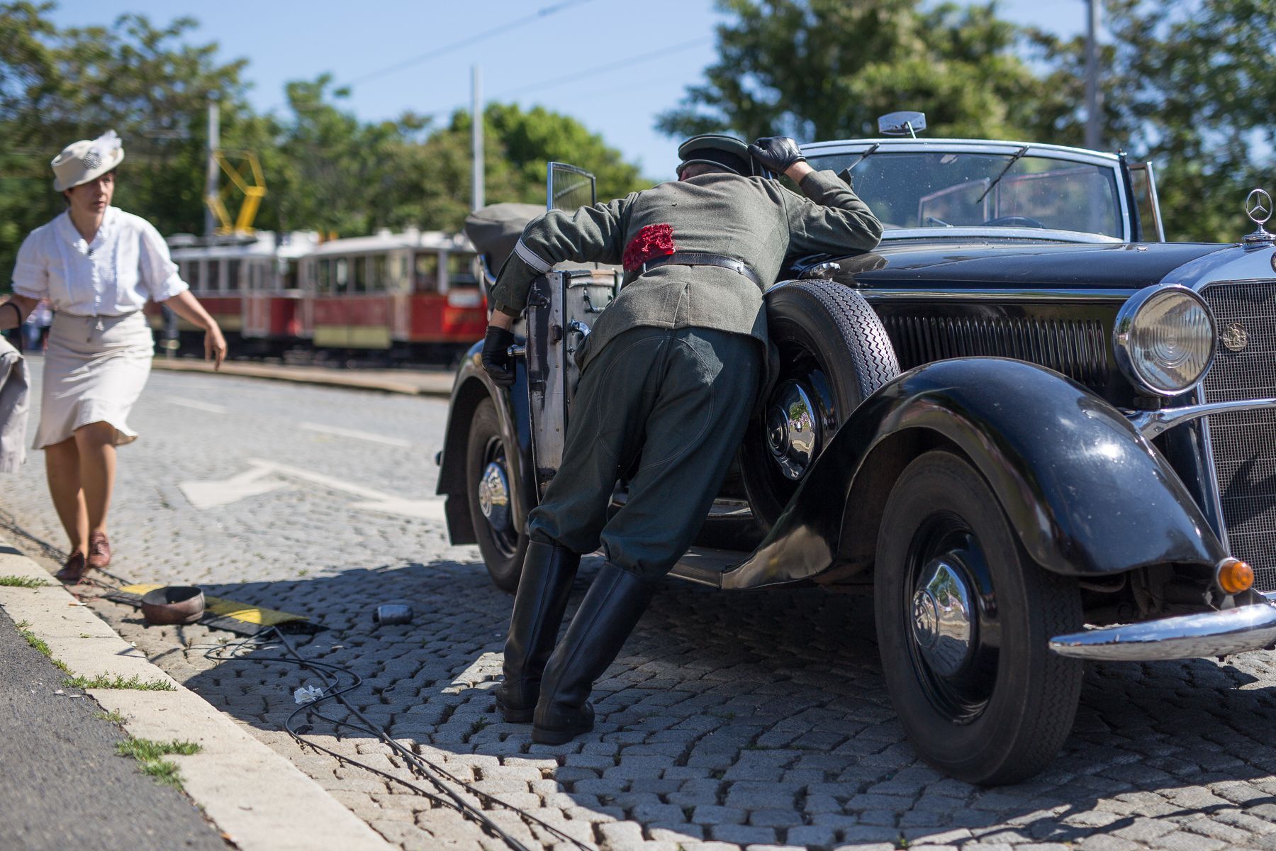
[[[792, 139], [684, 142], [679, 180], [531, 222], [491, 291], [482, 362], [513, 383], [507, 350], [531, 282], [564, 260], [623, 263], [625, 286], [586, 338], [563, 464], [528, 515], [531, 542], [498, 704], [561, 744], [593, 729], [593, 681], [615, 660], [708, 514], [766, 376], [762, 292], [790, 253], [868, 250], [882, 226]], [[787, 175], [805, 198], [754, 176]], [[609, 521], [616, 481], [628, 499]], [[555, 648], [582, 552], [606, 563]], [[553, 651], [553, 655], [551, 655]]]

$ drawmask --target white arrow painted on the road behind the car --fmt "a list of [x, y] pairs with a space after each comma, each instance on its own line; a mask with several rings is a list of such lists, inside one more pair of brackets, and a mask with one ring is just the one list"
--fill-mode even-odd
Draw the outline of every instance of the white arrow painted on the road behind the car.
[[[237, 476], [213, 481], [181, 482], [179, 487], [186, 495], [186, 499], [190, 500], [191, 505], [199, 510], [204, 510], [285, 487], [286, 485], [278, 480], [292, 478], [357, 496], [359, 501], [351, 503], [350, 507], [365, 512], [415, 517], [424, 521], [444, 519], [441, 496], [404, 499], [403, 496], [383, 494], [379, 490], [364, 487], [343, 478], [325, 476], [324, 473], [302, 470], [301, 467], [279, 464], [264, 458], [249, 458], [248, 463], [249, 470]], [[274, 477], [276, 481], [263, 481], [267, 477]]]

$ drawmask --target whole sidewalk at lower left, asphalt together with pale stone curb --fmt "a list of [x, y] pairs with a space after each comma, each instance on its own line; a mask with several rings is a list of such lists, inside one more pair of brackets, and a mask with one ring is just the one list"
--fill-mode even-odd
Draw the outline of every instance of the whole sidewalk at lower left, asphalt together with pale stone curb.
[[[6, 814], [0, 819], [0, 847], [227, 847], [219, 832], [242, 851], [388, 848], [292, 763], [152, 665], [4, 538], [0, 577], [8, 578], [0, 584], [0, 658], [14, 660], [0, 692], [0, 712], [9, 709], [0, 727], [0, 811]], [[10, 584], [20, 581], [33, 587]], [[55, 661], [43, 662], [26, 647], [14, 623]], [[54, 667], [57, 663], [64, 670]], [[82, 692], [65, 683], [70, 676], [96, 679], [106, 688]], [[129, 736], [198, 745], [197, 753], [165, 759], [176, 764], [184, 791], [216, 832], [200, 832], [191, 801], [154, 786], [131, 760], [114, 757], [119, 732], [91, 717], [102, 711]], [[137, 778], [114, 776], [120, 772]], [[143, 841], [148, 832], [154, 840], [149, 845]]]

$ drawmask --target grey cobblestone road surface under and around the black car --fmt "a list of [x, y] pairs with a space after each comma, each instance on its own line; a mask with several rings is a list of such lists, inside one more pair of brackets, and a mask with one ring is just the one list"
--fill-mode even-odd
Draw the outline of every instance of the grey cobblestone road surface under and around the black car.
[[[501, 722], [491, 692], [510, 597], [487, 583], [475, 549], [448, 546], [440, 522], [355, 509], [351, 494], [297, 477], [204, 510], [177, 486], [263, 458], [426, 499], [444, 416], [440, 401], [157, 374], [133, 416], [143, 436], [120, 450], [112, 570], [314, 618], [328, 629], [297, 638], [300, 652], [362, 675], [351, 697], [371, 720], [600, 848], [1276, 850], [1270, 653], [1094, 665], [1054, 766], [981, 790], [916, 759], [887, 699], [866, 598], [671, 582], [595, 692], [597, 730], [532, 745], [527, 726]], [[4, 481], [3, 507], [60, 546], [33, 462]], [[595, 568], [586, 563], [573, 602]], [[378, 629], [373, 607], [396, 600], [412, 603], [416, 621]], [[449, 809], [297, 746], [281, 725], [292, 690], [316, 679], [260, 661], [213, 663], [204, 651], [226, 633], [145, 628], [129, 607], [94, 605], [392, 842], [500, 847]], [[318, 723], [311, 732], [406, 776], [374, 739]], [[528, 845], [551, 841], [508, 810], [491, 814]]]

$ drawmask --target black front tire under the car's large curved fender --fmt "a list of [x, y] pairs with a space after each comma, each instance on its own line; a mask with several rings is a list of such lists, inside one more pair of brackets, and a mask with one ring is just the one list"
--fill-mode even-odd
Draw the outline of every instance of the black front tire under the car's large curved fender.
[[[919, 589], [934, 575], [938, 591], [928, 601]], [[944, 629], [929, 629], [938, 621], [928, 610], [943, 611], [934, 601], [953, 598], [952, 577], [974, 610], [965, 644], [930, 640]], [[963, 458], [928, 452], [900, 476], [878, 535], [874, 597], [887, 690], [923, 759], [995, 786], [1031, 777], [1054, 758], [1077, 713], [1082, 665], [1046, 642], [1081, 628], [1081, 595], [1073, 579], [1028, 558]]]

